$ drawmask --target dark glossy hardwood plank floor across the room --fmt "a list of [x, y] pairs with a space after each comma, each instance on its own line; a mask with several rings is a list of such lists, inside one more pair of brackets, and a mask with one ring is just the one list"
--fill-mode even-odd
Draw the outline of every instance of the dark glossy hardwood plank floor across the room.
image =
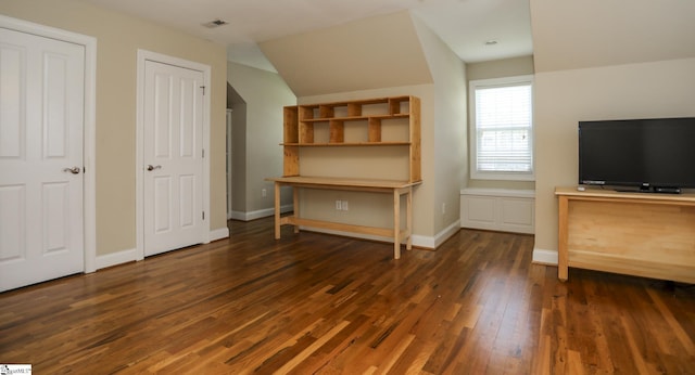
[[690, 285], [531, 264], [533, 237], [437, 251], [230, 222], [231, 236], [0, 294], [35, 374], [693, 374]]

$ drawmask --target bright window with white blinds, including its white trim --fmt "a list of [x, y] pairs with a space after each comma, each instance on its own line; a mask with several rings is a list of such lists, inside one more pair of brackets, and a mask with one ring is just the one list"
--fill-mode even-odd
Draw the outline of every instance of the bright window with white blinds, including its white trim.
[[470, 81], [471, 178], [533, 180], [532, 76]]

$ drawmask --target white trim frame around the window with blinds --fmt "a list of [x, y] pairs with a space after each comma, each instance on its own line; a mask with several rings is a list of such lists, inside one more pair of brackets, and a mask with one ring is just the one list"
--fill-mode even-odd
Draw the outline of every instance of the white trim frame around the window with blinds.
[[[471, 180], [510, 180], [510, 181], [534, 181], [535, 180], [535, 125], [534, 120], [531, 120], [531, 171], [530, 172], [489, 172], [479, 171], [477, 168], [478, 158], [478, 137], [476, 134], [476, 89], [490, 88], [490, 87], [506, 87], [514, 85], [531, 85], [531, 92], [533, 95], [534, 85], [533, 75], [491, 78], [491, 79], [476, 79], [468, 82], [468, 107], [470, 113], [470, 121], [468, 121], [468, 139], [469, 139], [469, 160], [470, 160], [470, 179]], [[534, 102], [534, 101], [532, 101]], [[533, 103], [531, 104], [533, 106]], [[532, 117], [534, 116], [534, 108], [531, 108]]]

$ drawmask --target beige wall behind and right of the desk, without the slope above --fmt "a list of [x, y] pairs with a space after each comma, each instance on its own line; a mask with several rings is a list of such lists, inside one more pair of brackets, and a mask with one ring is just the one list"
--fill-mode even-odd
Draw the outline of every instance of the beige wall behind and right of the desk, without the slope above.
[[[434, 79], [433, 85], [403, 86], [377, 90], [341, 92], [327, 95], [302, 96], [300, 104], [345, 101], [365, 98], [415, 95], [421, 103], [421, 168], [422, 184], [415, 189], [413, 232], [416, 236], [434, 238], [458, 220], [459, 190], [466, 164], [466, 80], [463, 62], [431, 30], [414, 20], [422, 53]], [[307, 151], [303, 157], [316, 161], [303, 164], [302, 174], [358, 176], [383, 173], [379, 165], [359, 164], [358, 171], [348, 170], [362, 155], [354, 150], [339, 150], [338, 159], [329, 161]], [[336, 152], [332, 152], [336, 153]], [[317, 154], [317, 155], [314, 155]], [[395, 168], [389, 173], [397, 173]], [[383, 174], [381, 174], [383, 176]], [[406, 176], [389, 174], [389, 178]], [[303, 216], [353, 224], [389, 227], [392, 222], [391, 198], [383, 194], [308, 191], [302, 193]], [[334, 201], [350, 202], [349, 211], [334, 210]], [[442, 205], [447, 209], [442, 212]]]

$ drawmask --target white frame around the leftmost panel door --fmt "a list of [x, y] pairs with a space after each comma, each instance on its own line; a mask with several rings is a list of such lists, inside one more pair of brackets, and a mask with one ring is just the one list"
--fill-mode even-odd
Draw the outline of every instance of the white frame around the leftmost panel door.
[[97, 39], [60, 28], [39, 25], [31, 22], [8, 17], [0, 14], [0, 27], [15, 31], [33, 34], [85, 47], [85, 104], [83, 130], [84, 195], [84, 272], [97, 271], [97, 163], [96, 163], [96, 125], [97, 125]]

